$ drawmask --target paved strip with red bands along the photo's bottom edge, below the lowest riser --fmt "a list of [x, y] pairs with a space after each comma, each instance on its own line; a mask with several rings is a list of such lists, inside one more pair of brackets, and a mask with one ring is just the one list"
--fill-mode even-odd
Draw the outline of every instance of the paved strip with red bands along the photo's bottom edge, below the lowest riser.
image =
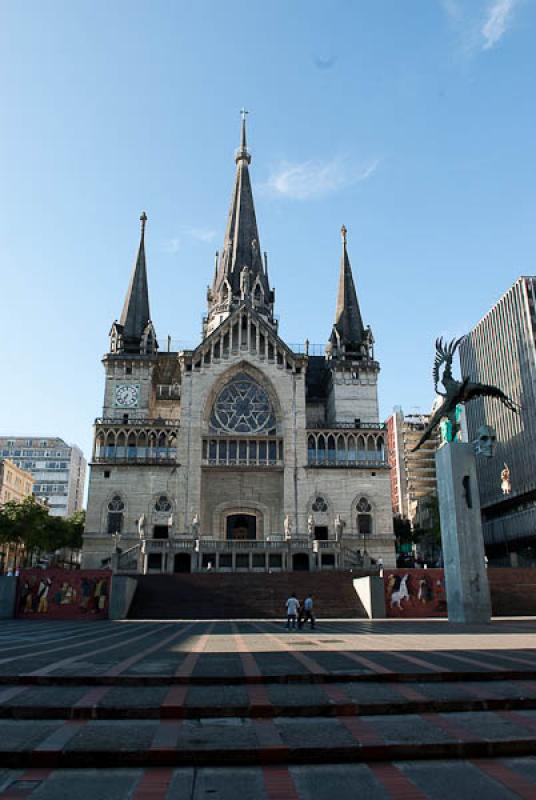
[[[20, 800], [515, 800], [533, 798], [536, 758], [253, 767], [0, 770], [0, 797]], [[30, 795], [31, 796], [31, 795]]]

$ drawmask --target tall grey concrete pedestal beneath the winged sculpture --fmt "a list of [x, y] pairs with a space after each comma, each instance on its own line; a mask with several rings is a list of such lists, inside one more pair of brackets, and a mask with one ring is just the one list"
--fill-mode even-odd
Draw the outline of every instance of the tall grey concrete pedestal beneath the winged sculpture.
[[472, 445], [444, 444], [436, 453], [436, 472], [449, 622], [489, 622], [491, 601]]

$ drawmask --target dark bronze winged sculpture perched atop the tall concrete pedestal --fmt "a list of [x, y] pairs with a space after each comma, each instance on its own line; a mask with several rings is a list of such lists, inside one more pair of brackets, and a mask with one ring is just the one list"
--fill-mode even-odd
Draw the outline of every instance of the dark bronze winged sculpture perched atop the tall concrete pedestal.
[[[443, 401], [432, 415], [421, 438], [412, 449], [412, 452], [418, 450], [424, 442], [430, 438], [442, 419], [447, 418], [450, 421], [454, 438], [459, 430], [458, 421], [456, 419], [456, 407], [461, 403], [468, 403], [474, 400], [475, 397], [495, 397], [510, 411], [514, 413], [519, 412], [520, 406], [511, 400], [508, 395], [497, 386], [471, 381], [471, 379], [467, 377], [462, 378], [461, 381], [457, 381], [452, 377], [452, 360], [464, 338], [465, 337], [462, 336], [460, 339], [452, 339], [450, 342], [443, 341], [443, 338], [436, 339], [436, 354], [432, 375], [434, 389], [436, 393], [443, 398]], [[443, 368], [443, 375], [441, 375], [441, 368]], [[438, 389], [438, 384], [440, 382], [443, 384], [444, 392]]]

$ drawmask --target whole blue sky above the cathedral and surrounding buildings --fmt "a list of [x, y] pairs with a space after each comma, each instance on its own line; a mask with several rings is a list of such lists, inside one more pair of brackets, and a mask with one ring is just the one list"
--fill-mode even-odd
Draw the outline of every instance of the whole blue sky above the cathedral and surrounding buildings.
[[195, 342], [249, 115], [280, 333], [325, 343], [340, 227], [380, 401], [536, 245], [531, 0], [0, 2], [0, 432], [91, 449], [145, 209], [163, 344]]

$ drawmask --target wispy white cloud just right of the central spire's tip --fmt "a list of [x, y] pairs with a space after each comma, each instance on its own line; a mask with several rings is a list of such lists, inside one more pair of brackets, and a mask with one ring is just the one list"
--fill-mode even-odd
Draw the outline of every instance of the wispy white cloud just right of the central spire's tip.
[[356, 168], [342, 158], [300, 164], [285, 161], [272, 172], [263, 188], [295, 200], [307, 200], [367, 180], [376, 172], [379, 163], [379, 159], [375, 159]]

